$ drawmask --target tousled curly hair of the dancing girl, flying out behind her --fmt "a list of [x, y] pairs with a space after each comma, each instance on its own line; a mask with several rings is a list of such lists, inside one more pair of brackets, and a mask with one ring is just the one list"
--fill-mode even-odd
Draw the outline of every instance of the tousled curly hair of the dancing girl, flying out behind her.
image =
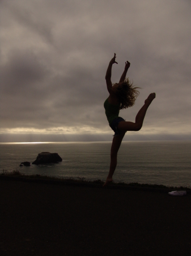
[[129, 78], [125, 79], [122, 84], [113, 86], [113, 92], [121, 104], [120, 109], [126, 109], [135, 104], [135, 100], [139, 94], [138, 88], [133, 86], [133, 82], [129, 81]]

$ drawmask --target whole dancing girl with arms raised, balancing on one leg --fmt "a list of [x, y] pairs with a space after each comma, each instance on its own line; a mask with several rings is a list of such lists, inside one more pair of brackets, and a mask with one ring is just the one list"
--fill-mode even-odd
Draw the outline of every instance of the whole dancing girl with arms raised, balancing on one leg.
[[116, 63], [116, 53], [111, 59], [108, 65], [108, 69], [105, 75], [107, 89], [109, 97], [104, 102], [105, 114], [107, 116], [109, 126], [114, 131], [113, 142], [111, 147], [111, 162], [109, 168], [109, 174], [103, 185], [107, 186], [113, 180], [114, 170], [117, 166], [117, 152], [121, 146], [122, 139], [126, 131], [139, 131], [143, 125], [143, 120], [147, 112], [148, 106], [152, 100], [156, 97], [155, 93], [151, 93], [145, 100], [145, 104], [139, 110], [135, 117], [135, 122], [127, 122], [122, 117], [119, 117], [120, 109], [126, 109], [134, 105], [135, 100], [139, 94], [138, 87], [134, 87], [133, 83], [126, 79], [126, 73], [130, 67], [129, 61], [125, 63], [125, 69], [122, 73], [121, 79], [118, 83], [112, 85], [112, 65]]

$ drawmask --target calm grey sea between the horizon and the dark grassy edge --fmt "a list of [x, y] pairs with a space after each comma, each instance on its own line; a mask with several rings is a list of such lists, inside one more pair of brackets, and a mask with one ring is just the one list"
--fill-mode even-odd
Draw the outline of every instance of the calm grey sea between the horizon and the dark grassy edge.
[[[0, 172], [105, 180], [109, 170], [111, 142], [0, 143]], [[62, 162], [19, 167], [33, 162], [40, 152], [57, 152]], [[191, 142], [122, 142], [113, 179], [191, 187]]]

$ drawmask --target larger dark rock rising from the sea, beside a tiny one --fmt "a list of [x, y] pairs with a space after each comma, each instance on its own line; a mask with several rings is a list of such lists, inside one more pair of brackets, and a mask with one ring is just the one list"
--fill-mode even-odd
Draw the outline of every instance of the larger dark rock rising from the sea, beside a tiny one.
[[44, 164], [44, 163], [58, 163], [61, 162], [62, 158], [58, 153], [41, 152], [37, 155], [37, 158], [32, 164]]

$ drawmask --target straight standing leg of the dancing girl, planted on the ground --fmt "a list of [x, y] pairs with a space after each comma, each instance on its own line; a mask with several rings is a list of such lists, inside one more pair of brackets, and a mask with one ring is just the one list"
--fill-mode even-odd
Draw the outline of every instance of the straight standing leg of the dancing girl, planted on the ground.
[[125, 132], [113, 137], [113, 142], [112, 142], [112, 147], [111, 147], [111, 162], [110, 162], [109, 174], [108, 174], [108, 177], [107, 177], [103, 187], [105, 187], [112, 181], [112, 176], [113, 176], [114, 170], [116, 170], [116, 166], [117, 166], [117, 152], [121, 146], [121, 142], [122, 142], [122, 139], [124, 138], [124, 135], [125, 135]]

